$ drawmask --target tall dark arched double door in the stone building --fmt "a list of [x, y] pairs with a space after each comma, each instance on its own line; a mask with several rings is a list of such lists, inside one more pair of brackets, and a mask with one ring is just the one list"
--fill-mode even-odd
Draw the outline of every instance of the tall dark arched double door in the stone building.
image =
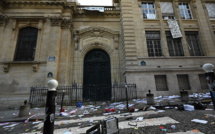
[[111, 100], [110, 57], [100, 49], [88, 52], [84, 58], [85, 101]]

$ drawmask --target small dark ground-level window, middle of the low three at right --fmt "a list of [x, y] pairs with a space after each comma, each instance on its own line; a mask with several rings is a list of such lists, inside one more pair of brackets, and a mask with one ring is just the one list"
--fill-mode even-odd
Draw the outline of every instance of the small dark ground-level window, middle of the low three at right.
[[191, 90], [187, 74], [177, 75], [179, 90]]

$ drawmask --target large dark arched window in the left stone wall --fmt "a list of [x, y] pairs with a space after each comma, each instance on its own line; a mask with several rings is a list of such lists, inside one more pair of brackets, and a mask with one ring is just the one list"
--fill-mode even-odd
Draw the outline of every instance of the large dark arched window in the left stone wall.
[[33, 61], [37, 44], [38, 29], [25, 27], [19, 30], [14, 61]]

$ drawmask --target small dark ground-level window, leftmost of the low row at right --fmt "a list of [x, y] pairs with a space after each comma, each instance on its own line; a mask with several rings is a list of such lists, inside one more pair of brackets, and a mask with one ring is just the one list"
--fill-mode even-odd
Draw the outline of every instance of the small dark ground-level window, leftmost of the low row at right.
[[166, 75], [155, 75], [155, 84], [157, 91], [168, 91]]

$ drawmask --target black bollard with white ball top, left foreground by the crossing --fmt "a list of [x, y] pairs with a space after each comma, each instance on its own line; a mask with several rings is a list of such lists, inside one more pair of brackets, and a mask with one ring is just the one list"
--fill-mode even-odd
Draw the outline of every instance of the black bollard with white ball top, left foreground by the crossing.
[[58, 82], [54, 79], [48, 81], [48, 93], [46, 99], [46, 115], [43, 127], [43, 134], [53, 134], [55, 120], [55, 98], [57, 95], [56, 88]]

